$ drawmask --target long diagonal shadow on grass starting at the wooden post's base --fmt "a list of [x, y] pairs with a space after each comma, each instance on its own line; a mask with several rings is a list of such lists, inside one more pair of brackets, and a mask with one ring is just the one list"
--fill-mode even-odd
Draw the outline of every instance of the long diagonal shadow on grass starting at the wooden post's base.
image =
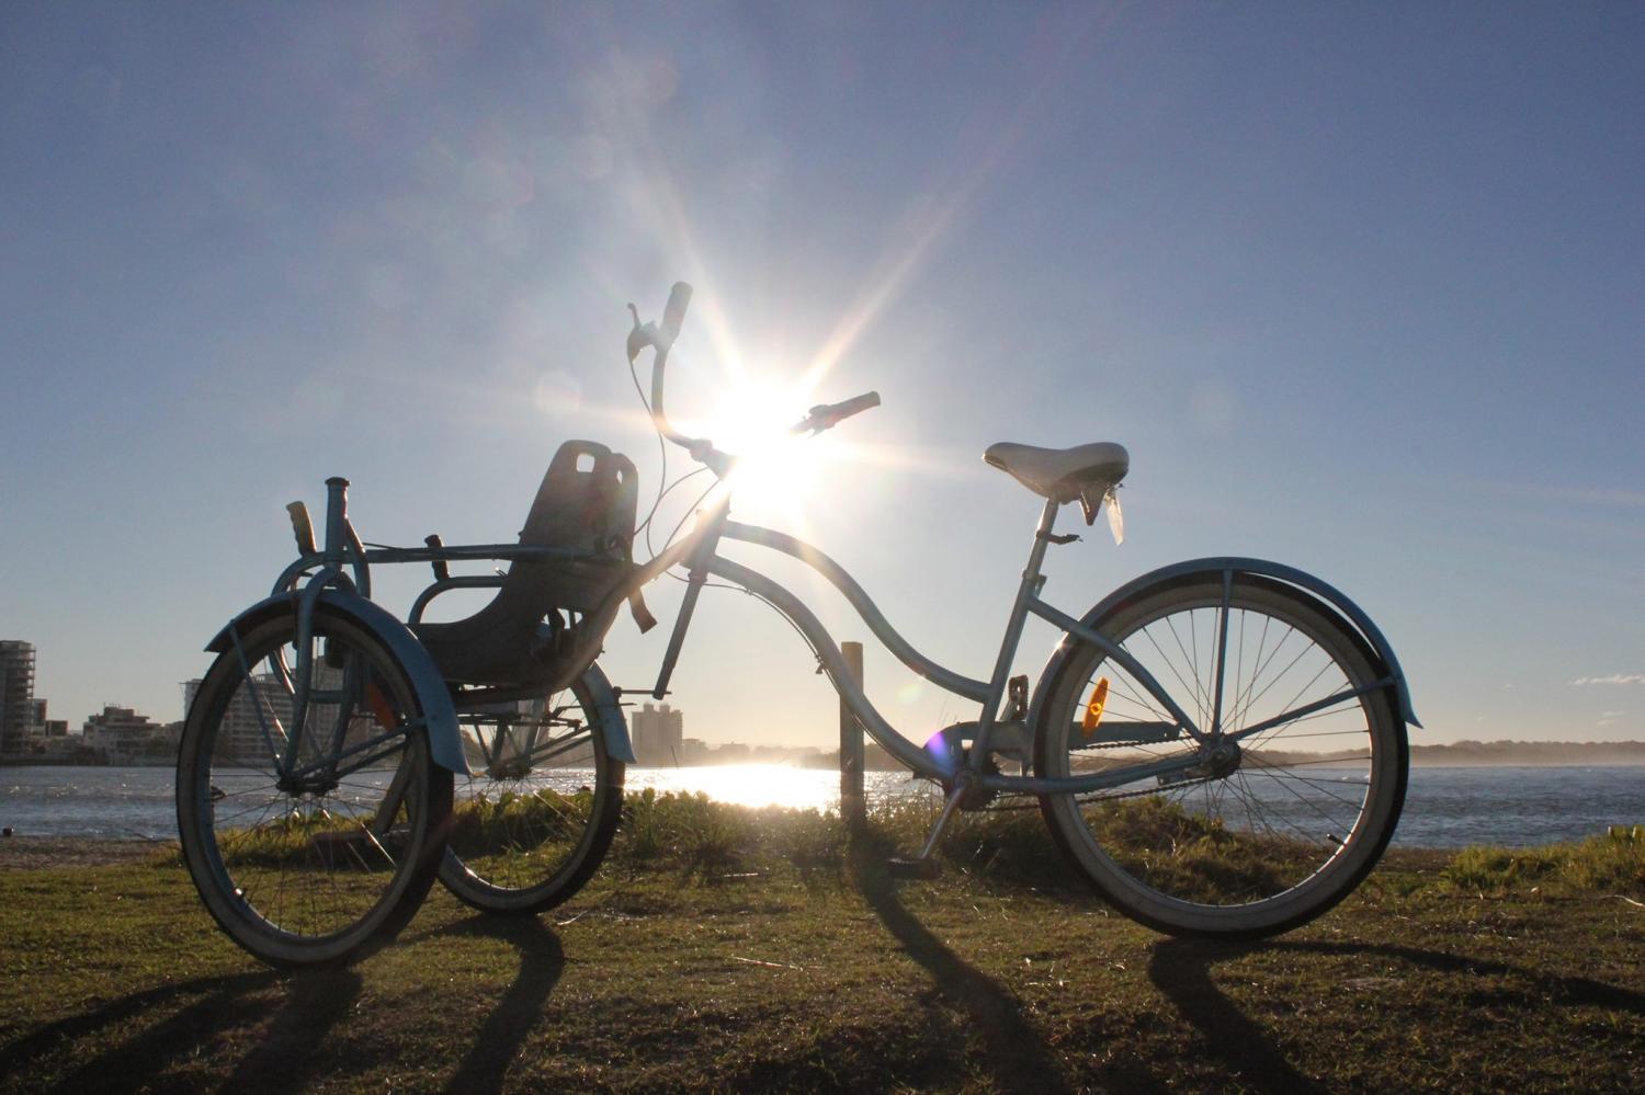
[[885, 848], [873, 840], [847, 850], [852, 885], [903, 952], [924, 967], [938, 991], [967, 1018], [966, 1031], [984, 1042], [984, 1060], [1003, 1092], [1068, 1092], [1051, 1049], [1023, 1018], [1022, 1001], [987, 973], [961, 959], [901, 903], [898, 883], [885, 870]]

